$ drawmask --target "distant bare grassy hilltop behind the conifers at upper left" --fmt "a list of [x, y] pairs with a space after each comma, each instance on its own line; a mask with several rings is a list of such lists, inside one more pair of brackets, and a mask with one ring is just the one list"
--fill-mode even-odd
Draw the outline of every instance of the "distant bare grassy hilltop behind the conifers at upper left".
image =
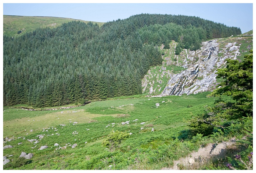
[[[3, 15], [3, 34], [7, 36], [17, 37], [23, 35], [26, 32], [32, 32], [36, 28], [55, 28], [62, 23], [70, 21], [82, 21], [88, 23], [89, 21], [83, 21], [72, 18], [57, 18], [57, 17], [39, 17], [39, 16], [9, 16]], [[93, 24], [96, 22], [93, 22]], [[103, 23], [97, 22], [99, 26]], [[22, 33], [18, 34], [18, 31]]]

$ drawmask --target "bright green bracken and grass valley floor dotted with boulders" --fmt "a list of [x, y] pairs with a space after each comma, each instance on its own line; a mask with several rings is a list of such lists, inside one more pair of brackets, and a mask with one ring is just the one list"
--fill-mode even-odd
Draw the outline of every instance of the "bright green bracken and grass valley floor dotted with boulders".
[[[214, 98], [207, 98], [207, 94], [209, 92], [155, 97], [150, 100], [144, 95], [137, 95], [92, 102], [78, 108], [50, 111], [5, 108], [3, 137], [15, 136], [16, 139], [4, 144], [15, 146], [13, 149], [3, 150], [3, 155], [13, 155], [13, 161], [6, 164], [4, 169], [106, 170], [161, 169], [171, 166], [173, 160], [198, 148], [198, 145], [189, 141], [181, 142], [178, 138], [187, 129], [187, 120], [197, 114], [203, 114], [206, 105], [213, 105]], [[158, 108], [156, 103], [160, 103]], [[138, 120], [133, 121], [135, 119]], [[74, 121], [78, 124], [73, 125]], [[130, 122], [122, 125], [125, 121]], [[140, 125], [141, 122], [145, 124]], [[154, 132], [151, 132], [152, 128], [155, 129]], [[30, 132], [32, 129], [33, 132]], [[110, 150], [104, 147], [102, 142], [109, 133], [116, 130], [132, 135], [121, 141], [117, 148]], [[78, 134], [74, 134], [75, 131]], [[28, 142], [27, 139], [38, 139], [36, 136], [40, 134], [44, 137], [38, 144]], [[24, 136], [25, 140], [23, 137], [17, 138], [21, 136]], [[19, 142], [23, 144], [18, 145]], [[61, 147], [75, 143], [78, 146], [73, 149], [68, 146], [66, 150], [55, 150], [58, 148], [54, 146], [55, 143]], [[43, 145], [48, 148], [38, 150]], [[12, 167], [21, 152], [34, 154], [31, 163], [18, 168]], [[112, 167], [108, 167], [109, 165]]]

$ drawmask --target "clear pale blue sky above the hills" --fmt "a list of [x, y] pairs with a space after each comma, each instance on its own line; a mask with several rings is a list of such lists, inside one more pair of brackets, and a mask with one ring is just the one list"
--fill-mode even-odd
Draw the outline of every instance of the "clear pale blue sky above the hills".
[[[242, 33], [253, 29], [253, 3], [3, 3], [4, 15], [52, 16], [107, 22], [135, 14], [181, 14], [197, 16]], [[72, 1], [69, 1], [72, 2]], [[122, 1], [123, 2], [123, 1]], [[140, 1], [137, 1], [140, 2]], [[154, 1], [158, 2], [158, 1]], [[165, 2], [162, 0], [161, 2]], [[169, 1], [171, 2], [171, 0]], [[178, 2], [178, 1], [177, 1]]]

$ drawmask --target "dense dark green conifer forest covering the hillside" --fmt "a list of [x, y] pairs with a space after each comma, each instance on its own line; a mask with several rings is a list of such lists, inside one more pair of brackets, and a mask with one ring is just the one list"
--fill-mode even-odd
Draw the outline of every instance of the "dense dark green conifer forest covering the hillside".
[[44, 107], [140, 94], [149, 66], [162, 63], [157, 45], [175, 40], [198, 49], [202, 40], [240, 33], [196, 17], [141, 14], [101, 28], [70, 22], [4, 36], [3, 103]]

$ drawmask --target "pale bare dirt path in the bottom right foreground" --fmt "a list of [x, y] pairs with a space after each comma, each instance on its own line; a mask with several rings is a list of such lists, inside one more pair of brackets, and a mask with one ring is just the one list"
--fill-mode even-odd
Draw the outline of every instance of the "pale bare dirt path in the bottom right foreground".
[[162, 168], [162, 170], [178, 170], [178, 164], [184, 166], [191, 166], [196, 162], [202, 163], [204, 159], [212, 158], [214, 156], [221, 157], [225, 155], [226, 147], [235, 144], [235, 138], [230, 139], [228, 142], [222, 142], [219, 144], [208, 144], [204, 148], [199, 148], [197, 152], [192, 152], [189, 156], [173, 161], [173, 167]]

